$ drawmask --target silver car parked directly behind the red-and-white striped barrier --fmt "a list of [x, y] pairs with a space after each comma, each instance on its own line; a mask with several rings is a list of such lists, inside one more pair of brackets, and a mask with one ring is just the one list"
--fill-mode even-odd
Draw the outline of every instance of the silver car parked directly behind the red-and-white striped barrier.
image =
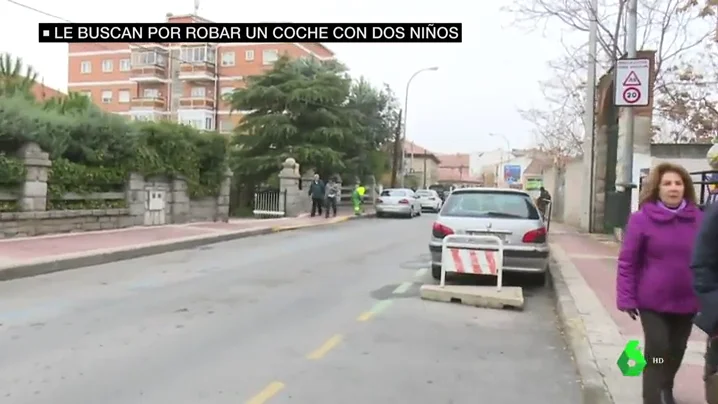
[[441, 277], [442, 240], [448, 235], [491, 235], [504, 243], [503, 269], [535, 274], [544, 281], [549, 260], [548, 234], [529, 194], [503, 188], [454, 190], [431, 231], [431, 272]]

